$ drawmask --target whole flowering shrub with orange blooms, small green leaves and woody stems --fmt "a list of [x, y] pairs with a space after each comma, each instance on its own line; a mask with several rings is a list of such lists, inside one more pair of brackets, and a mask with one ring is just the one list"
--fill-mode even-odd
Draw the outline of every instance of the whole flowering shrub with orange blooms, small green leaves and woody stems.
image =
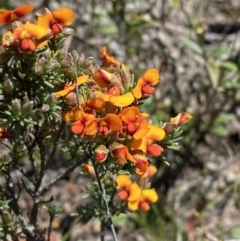
[[[111, 214], [147, 211], [158, 200], [149, 183], [157, 172], [152, 162], [164, 159], [164, 149], [179, 149], [179, 127], [191, 115], [180, 113], [167, 123], [151, 123], [139, 107], [160, 82], [157, 69], [136, 79], [106, 47], [98, 67], [91, 57], [62, 47], [73, 34], [66, 27], [74, 21], [71, 9], [45, 9], [36, 14], [36, 23], [20, 21], [33, 9], [28, 4], [0, 12], [0, 23], [8, 27], [0, 47], [0, 145], [6, 150], [0, 155], [0, 237], [45, 240], [37, 225], [38, 210], [54, 197], [43, 200], [43, 195], [78, 166], [93, 180], [86, 192], [98, 206], [78, 206], [76, 216], [98, 217], [112, 226]], [[59, 148], [70, 166], [45, 184]], [[14, 170], [21, 174], [18, 182]], [[19, 204], [22, 190], [32, 199], [28, 217]], [[51, 204], [46, 209], [50, 235], [60, 210]], [[113, 236], [116, 240], [114, 231]]]

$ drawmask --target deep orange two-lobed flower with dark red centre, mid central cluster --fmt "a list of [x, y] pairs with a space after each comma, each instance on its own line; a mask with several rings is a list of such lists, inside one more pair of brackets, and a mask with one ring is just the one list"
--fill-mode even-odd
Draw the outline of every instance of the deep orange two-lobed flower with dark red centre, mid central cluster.
[[86, 135], [99, 135], [107, 136], [111, 130], [120, 131], [122, 128], [122, 121], [116, 115], [109, 113], [103, 118], [95, 118], [86, 126]]

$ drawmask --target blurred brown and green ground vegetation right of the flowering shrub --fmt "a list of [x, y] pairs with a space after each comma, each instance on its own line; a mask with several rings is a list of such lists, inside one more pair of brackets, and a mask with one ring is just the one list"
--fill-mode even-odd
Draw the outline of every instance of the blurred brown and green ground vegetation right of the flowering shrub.
[[158, 68], [161, 83], [145, 106], [155, 123], [193, 115], [181, 151], [165, 152], [170, 165], [155, 161], [159, 202], [116, 219], [120, 240], [240, 239], [240, 1], [5, 0], [1, 7], [24, 3], [72, 8], [75, 35], [65, 47], [95, 63], [106, 45], [136, 78]]

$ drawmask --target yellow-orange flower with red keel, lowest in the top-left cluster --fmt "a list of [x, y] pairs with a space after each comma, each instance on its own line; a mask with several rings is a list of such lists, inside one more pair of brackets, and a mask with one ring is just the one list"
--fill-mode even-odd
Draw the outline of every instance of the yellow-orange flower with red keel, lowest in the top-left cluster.
[[36, 48], [44, 47], [47, 44], [45, 38], [48, 33], [47, 29], [28, 22], [16, 28], [13, 33], [10, 31], [5, 33], [2, 43], [4, 47], [9, 47], [19, 42], [21, 51], [34, 51]]

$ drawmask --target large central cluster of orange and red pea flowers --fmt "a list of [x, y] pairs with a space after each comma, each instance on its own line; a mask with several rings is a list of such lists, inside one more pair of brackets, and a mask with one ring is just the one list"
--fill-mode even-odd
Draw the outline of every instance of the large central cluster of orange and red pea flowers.
[[[169, 126], [172, 130], [178, 128], [191, 115], [181, 113], [163, 126], [150, 124], [148, 113], [142, 113], [139, 104], [154, 93], [160, 81], [158, 70], [149, 69], [135, 81], [122, 63], [107, 54], [106, 47], [101, 58], [101, 68], [94, 67], [92, 75], [80, 76], [75, 83], [66, 83], [63, 90], [54, 93], [69, 107], [62, 112], [62, 119], [71, 122], [71, 131], [79, 138], [96, 144], [94, 158], [98, 163], [106, 167], [114, 164], [115, 173], [127, 168], [129, 174], [141, 180], [153, 168], [149, 158], [164, 151], [159, 143], [170, 133], [165, 130]], [[76, 88], [84, 92], [78, 97], [79, 103]], [[90, 165], [85, 164], [84, 169], [94, 176]], [[133, 183], [129, 175], [119, 175], [116, 180], [117, 188], [123, 189], [118, 196], [127, 199], [130, 210], [139, 207], [146, 211], [148, 203], [158, 199], [155, 190]]]

